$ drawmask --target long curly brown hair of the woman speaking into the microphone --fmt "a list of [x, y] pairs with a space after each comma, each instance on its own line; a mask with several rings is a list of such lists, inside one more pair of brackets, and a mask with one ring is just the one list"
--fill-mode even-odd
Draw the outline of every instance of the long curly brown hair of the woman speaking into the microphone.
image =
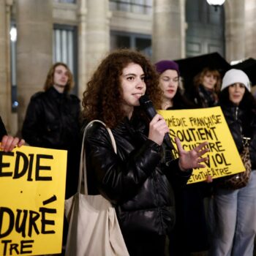
[[135, 50], [118, 49], [102, 60], [87, 83], [83, 92], [83, 117], [87, 121], [100, 119], [108, 127], [116, 127], [125, 117], [122, 106], [120, 76], [128, 64], [135, 63], [142, 67], [145, 74], [146, 94], [154, 107], [161, 108], [162, 90], [158, 86], [159, 75], [151, 62]]

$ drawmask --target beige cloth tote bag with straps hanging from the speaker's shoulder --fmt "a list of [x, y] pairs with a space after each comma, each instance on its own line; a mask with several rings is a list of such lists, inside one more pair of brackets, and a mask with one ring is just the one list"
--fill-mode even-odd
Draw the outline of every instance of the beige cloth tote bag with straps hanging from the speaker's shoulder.
[[[106, 125], [99, 120], [94, 120]], [[83, 145], [87, 129], [83, 133]], [[116, 141], [109, 128], [113, 148]], [[129, 255], [116, 217], [115, 208], [102, 195], [88, 195], [85, 148], [80, 155], [78, 192], [65, 200], [65, 214], [69, 220], [66, 256], [126, 256]], [[83, 182], [84, 177], [84, 182]], [[84, 183], [84, 184], [83, 184]], [[82, 188], [84, 191], [82, 192]]]

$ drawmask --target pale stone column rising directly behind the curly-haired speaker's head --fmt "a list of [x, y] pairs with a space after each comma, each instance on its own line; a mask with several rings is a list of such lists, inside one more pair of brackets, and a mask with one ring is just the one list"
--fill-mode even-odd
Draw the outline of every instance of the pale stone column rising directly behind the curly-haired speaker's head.
[[87, 0], [86, 62], [87, 80], [110, 50], [110, 12], [108, 0]]

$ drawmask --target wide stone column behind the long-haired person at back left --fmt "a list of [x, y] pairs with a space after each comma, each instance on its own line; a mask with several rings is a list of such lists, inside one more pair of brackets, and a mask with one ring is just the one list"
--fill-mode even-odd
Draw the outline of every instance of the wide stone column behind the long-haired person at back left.
[[32, 94], [42, 91], [52, 64], [52, 0], [16, 1], [18, 125]]

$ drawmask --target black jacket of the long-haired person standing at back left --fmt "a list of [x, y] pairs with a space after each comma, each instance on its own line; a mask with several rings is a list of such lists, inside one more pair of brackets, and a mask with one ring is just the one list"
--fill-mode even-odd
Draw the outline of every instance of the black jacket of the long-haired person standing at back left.
[[30, 146], [69, 149], [79, 140], [80, 100], [51, 87], [31, 97], [22, 135]]

